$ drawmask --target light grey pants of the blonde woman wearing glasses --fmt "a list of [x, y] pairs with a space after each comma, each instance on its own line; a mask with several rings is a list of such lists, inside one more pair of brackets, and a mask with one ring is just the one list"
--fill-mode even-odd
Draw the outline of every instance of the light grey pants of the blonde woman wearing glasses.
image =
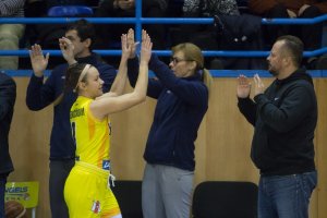
[[146, 164], [142, 182], [144, 218], [189, 218], [194, 172]]

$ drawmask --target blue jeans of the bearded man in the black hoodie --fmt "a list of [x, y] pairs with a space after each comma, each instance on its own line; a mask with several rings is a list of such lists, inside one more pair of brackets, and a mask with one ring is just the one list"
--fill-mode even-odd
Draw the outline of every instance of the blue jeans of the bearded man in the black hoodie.
[[310, 197], [317, 172], [262, 175], [258, 186], [258, 218], [307, 218]]

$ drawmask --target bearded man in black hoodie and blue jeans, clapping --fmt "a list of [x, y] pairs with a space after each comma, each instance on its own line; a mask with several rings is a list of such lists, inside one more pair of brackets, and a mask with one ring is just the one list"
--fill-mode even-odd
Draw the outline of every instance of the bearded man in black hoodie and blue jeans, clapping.
[[282, 36], [275, 43], [268, 70], [276, 77], [266, 89], [254, 76], [240, 75], [239, 109], [254, 125], [251, 158], [261, 171], [258, 218], [308, 217], [308, 202], [317, 183], [314, 131], [317, 101], [312, 77], [302, 69], [303, 43]]

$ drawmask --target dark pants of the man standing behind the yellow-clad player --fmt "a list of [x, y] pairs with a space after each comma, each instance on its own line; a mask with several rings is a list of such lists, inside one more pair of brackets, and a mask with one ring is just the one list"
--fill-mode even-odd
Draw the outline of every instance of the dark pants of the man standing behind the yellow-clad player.
[[63, 189], [65, 179], [75, 165], [74, 159], [50, 160], [50, 208], [52, 218], [69, 218], [69, 210], [64, 202]]

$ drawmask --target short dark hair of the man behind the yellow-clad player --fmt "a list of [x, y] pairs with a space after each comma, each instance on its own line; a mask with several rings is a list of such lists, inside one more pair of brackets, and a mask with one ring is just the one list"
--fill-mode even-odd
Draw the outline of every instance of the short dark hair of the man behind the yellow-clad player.
[[78, 21], [75, 21], [66, 27], [65, 32], [69, 31], [76, 31], [77, 36], [81, 38], [81, 41], [84, 41], [86, 39], [90, 39], [90, 46], [89, 49], [92, 50], [93, 44], [95, 41], [95, 28], [92, 23], [88, 23], [85, 19], [81, 19]]

